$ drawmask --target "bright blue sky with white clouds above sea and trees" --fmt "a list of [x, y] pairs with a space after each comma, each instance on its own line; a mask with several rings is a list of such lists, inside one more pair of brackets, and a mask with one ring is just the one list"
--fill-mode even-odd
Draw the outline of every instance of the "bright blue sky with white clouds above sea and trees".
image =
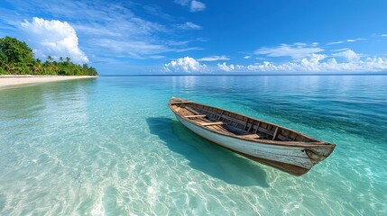
[[21, 1], [0, 37], [102, 75], [387, 71], [387, 1]]

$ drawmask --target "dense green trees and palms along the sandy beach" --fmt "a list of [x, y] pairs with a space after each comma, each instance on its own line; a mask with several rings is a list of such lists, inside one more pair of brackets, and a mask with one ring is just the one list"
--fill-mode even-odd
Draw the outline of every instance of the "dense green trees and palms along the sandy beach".
[[20, 40], [11, 37], [0, 38], [0, 75], [60, 75], [97, 76], [94, 67], [71, 62], [69, 57], [57, 62], [49, 56], [45, 62], [33, 57], [32, 49]]

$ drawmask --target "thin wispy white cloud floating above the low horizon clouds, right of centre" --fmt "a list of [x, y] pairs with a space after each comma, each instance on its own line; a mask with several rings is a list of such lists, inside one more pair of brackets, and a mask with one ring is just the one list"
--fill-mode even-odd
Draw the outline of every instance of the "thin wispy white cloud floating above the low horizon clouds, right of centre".
[[312, 53], [323, 51], [315, 45], [308, 46], [305, 43], [294, 43], [292, 45], [281, 44], [278, 47], [260, 48], [254, 51], [254, 54], [267, 55], [268, 57], [291, 57], [291, 58], [305, 58]]

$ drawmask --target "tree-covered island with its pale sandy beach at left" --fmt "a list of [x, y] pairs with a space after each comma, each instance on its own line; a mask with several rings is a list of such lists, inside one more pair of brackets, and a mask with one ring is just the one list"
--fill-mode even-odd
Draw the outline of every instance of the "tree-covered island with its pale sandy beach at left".
[[0, 39], [0, 87], [97, 76], [96, 68], [86, 63], [75, 64], [69, 57], [56, 61], [51, 56], [42, 62], [24, 41], [8, 36]]

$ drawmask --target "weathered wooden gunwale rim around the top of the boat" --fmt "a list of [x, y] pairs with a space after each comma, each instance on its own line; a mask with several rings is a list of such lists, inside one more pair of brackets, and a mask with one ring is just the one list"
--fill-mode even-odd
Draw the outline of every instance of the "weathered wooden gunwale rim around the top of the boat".
[[[180, 100], [180, 102], [171, 102], [172, 99]], [[227, 134], [227, 133], [219, 131], [219, 130], [212, 130], [212, 129], [209, 129], [209, 128], [203, 126], [203, 125], [200, 125], [196, 121], [192, 121], [189, 118], [185, 118], [184, 116], [180, 115], [179, 112], [175, 111], [171, 107], [173, 104], [181, 104], [181, 103], [195, 103], [195, 104], [198, 104], [198, 105], [207, 106], [207, 107], [210, 107], [210, 108], [215, 108], [215, 109], [218, 109], [218, 110], [221, 110], [221, 111], [231, 112], [231, 113], [234, 113], [236, 115], [243, 116], [243, 117], [245, 117], [247, 119], [250, 119], [250, 120], [261, 121], [263, 123], [272, 124], [273, 126], [278, 127], [280, 129], [290, 130], [290, 131], [295, 132], [297, 134], [300, 134], [300, 135], [302, 135], [302, 136], [304, 136], [304, 137], [306, 137], [308, 139], [314, 139], [314, 140], [317, 140], [317, 141], [315, 141], [315, 142], [299, 142], [299, 141], [281, 141], [281, 140], [268, 140], [268, 139], [252, 139], [252, 138], [239, 137], [239, 136], [233, 135], [233, 134]], [[332, 151], [333, 151], [333, 148], [336, 147], [336, 144], [312, 138], [312, 137], [310, 137], [310, 136], [308, 136], [308, 135], [306, 135], [306, 134], [304, 134], [302, 132], [299, 132], [297, 130], [291, 130], [289, 128], [282, 127], [282, 126], [280, 126], [278, 124], [275, 124], [275, 123], [272, 123], [272, 122], [263, 121], [263, 120], [260, 120], [260, 119], [257, 119], [257, 118], [253, 118], [253, 117], [241, 114], [241, 113], [232, 112], [232, 111], [228, 111], [228, 110], [225, 110], [225, 109], [222, 109], [222, 108], [218, 108], [216, 106], [210, 106], [210, 105], [203, 104], [203, 103], [196, 103], [196, 102], [192, 102], [192, 101], [187, 101], [187, 100], [184, 100], [184, 99], [181, 99], [181, 98], [176, 98], [176, 97], [175, 98], [172, 97], [170, 99], [170, 102], [168, 103], [168, 106], [170, 107], [170, 110], [172, 112], [174, 112], [176, 115], [178, 115], [180, 118], [184, 119], [185, 121], [189, 121], [189, 123], [195, 124], [195, 125], [197, 125], [198, 127], [202, 128], [202, 129], [209, 130], [211, 132], [216, 132], [217, 134], [220, 134], [220, 135], [223, 135], [223, 136], [226, 136], [226, 137], [230, 137], [230, 138], [242, 139], [242, 140], [245, 140], [245, 141], [252, 141], [254, 143], [262, 143], [262, 144], [269, 144], [269, 145], [276, 145], [276, 146], [303, 147], [303, 148], [319, 148], [319, 147], [320, 148], [332, 148]], [[181, 108], [183, 108], [183, 107], [181, 107]]]

